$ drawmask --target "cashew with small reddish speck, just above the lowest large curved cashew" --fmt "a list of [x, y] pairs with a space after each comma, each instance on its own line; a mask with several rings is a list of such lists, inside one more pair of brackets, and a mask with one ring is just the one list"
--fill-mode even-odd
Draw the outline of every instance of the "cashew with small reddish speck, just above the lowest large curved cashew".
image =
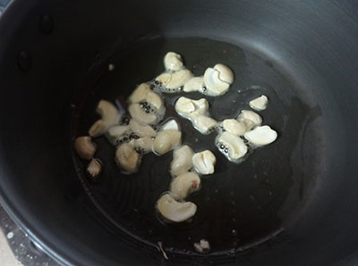
[[199, 189], [200, 178], [194, 172], [186, 172], [173, 179], [170, 192], [176, 199], [183, 200], [193, 191]]

